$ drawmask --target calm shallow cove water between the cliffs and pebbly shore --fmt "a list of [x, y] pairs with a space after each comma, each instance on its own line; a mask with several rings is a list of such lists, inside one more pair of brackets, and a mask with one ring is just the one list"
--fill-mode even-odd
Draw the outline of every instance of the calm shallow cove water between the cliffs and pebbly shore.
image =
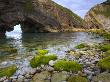
[[0, 40], [0, 52], [5, 48], [16, 48], [17, 53], [0, 53], [0, 60], [10, 60], [17, 56], [26, 57], [28, 52], [33, 55], [35, 49], [48, 49], [51, 53], [57, 55], [65, 54], [68, 49], [74, 48], [75, 45], [86, 43], [100, 43], [103, 39], [98, 35], [84, 32], [75, 33], [29, 33], [22, 32], [8, 33], [6, 38]]

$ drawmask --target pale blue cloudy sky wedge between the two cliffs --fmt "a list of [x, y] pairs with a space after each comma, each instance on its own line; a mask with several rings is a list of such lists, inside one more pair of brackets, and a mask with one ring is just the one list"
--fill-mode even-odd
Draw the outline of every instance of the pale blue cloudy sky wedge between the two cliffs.
[[53, 0], [56, 3], [69, 8], [74, 13], [84, 18], [85, 14], [96, 4], [106, 0]]

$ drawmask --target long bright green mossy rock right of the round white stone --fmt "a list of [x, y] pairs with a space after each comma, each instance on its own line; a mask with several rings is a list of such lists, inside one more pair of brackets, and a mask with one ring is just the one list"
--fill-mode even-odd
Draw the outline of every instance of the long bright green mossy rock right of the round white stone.
[[73, 71], [77, 72], [79, 70], [82, 70], [82, 65], [74, 62], [74, 61], [64, 61], [64, 60], [59, 60], [55, 63], [54, 65], [55, 70], [59, 71]]

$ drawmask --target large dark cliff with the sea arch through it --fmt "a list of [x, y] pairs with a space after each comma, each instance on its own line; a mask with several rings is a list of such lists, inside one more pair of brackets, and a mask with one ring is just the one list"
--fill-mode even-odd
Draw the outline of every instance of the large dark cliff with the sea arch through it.
[[0, 0], [0, 33], [16, 24], [23, 32], [65, 32], [82, 28], [83, 20], [51, 0]]

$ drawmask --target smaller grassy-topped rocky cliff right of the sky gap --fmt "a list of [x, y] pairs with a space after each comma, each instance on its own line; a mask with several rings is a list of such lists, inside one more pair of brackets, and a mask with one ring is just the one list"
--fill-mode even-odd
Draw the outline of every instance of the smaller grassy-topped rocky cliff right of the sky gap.
[[103, 28], [110, 31], [110, 0], [93, 7], [85, 16], [89, 28]]

